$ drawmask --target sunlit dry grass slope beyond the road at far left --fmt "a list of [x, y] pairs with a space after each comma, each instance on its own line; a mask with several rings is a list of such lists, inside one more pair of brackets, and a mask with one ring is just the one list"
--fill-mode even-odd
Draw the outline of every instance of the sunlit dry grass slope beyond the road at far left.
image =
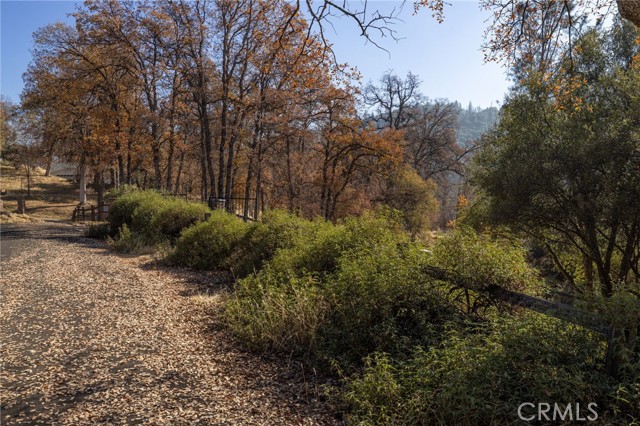
[[[5, 213], [18, 209], [18, 198], [26, 198], [26, 216], [2, 215], [0, 221], [24, 222], [33, 219], [71, 219], [78, 204], [78, 185], [56, 176], [44, 176], [42, 169], [31, 177], [31, 196], [27, 196], [27, 178], [24, 170], [12, 165], [0, 165], [0, 190]], [[91, 194], [88, 201], [91, 202]], [[94, 201], [95, 203], [95, 201]], [[28, 218], [28, 219], [27, 219]]]

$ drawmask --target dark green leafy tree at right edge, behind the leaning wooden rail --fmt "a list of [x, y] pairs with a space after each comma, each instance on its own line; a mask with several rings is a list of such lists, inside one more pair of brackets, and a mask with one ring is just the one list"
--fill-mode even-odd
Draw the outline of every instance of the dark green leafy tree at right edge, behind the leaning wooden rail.
[[640, 68], [604, 50], [614, 31], [579, 41], [571, 96], [563, 79], [512, 96], [476, 173], [495, 220], [575, 246], [605, 297], [640, 278]]

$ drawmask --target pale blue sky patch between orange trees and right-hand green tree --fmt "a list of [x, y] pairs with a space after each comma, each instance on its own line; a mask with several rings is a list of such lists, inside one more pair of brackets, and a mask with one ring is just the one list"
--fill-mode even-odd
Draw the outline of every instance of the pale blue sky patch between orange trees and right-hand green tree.
[[[399, 41], [377, 39], [389, 52], [366, 44], [358, 29], [349, 22], [337, 22], [336, 31], [328, 30], [340, 62], [356, 65], [364, 77], [375, 81], [388, 69], [398, 75], [418, 74], [421, 91], [429, 98], [448, 98], [463, 106], [496, 106], [502, 103], [510, 86], [505, 70], [495, 63], [484, 63], [481, 51], [483, 33], [489, 16], [475, 1], [449, 1], [445, 20], [438, 24], [428, 10], [413, 16], [412, 2], [401, 13], [404, 22], [395, 29]], [[401, 2], [372, 2], [381, 11]]]

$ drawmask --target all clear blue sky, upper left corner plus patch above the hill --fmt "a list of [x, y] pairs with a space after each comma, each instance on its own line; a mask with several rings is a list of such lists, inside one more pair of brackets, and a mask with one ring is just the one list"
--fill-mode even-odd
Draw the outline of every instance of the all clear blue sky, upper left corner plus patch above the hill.
[[[401, 2], [370, 0], [370, 7], [381, 11], [399, 7]], [[402, 39], [376, 41], [391, 54], [366, 43], [348, 20], [334, 21], [326, 35], [334, 44], [338, 61], [357, 66], [366, 83], [374, 82], [386, 71], [399, 75], [418, 74], [422, 93], [429, 98], [448, 98], [466, 106], [495, 106], [509, 86], [504, 69], [485, 64], [480, 51], [487, 18], [475, 1], [450, 1], [445, 21], [438, 24], [429, 11], [412, 16], [411, 2], [402, 12], [404, 22], [395, 29]], [[22, 73], [31, 60], [32, 34], [39, 27], [56, 21], [73, 23], [66, 15], [73, 12], [72, 1], [0, 1], [0, 92], [18, 102]], [[359, 2], [358, 2], [359, 4]]]

